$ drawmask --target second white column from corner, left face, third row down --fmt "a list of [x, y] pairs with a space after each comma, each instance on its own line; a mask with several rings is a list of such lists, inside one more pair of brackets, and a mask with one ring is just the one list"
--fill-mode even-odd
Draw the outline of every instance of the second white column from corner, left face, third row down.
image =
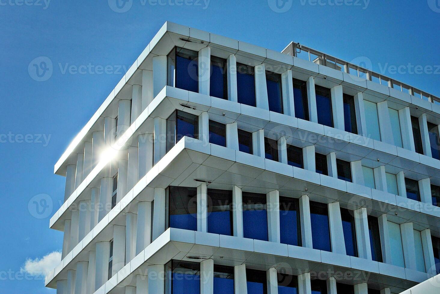
[[151, 202], [138, 203], [136, 226], [136, 255], [151, 243]]

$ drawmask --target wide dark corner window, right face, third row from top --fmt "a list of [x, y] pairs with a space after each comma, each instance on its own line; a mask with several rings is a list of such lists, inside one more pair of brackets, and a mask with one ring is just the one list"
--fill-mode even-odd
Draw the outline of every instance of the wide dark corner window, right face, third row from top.
[[168, 228], [197, 231], [197, 188], [169, 187]]

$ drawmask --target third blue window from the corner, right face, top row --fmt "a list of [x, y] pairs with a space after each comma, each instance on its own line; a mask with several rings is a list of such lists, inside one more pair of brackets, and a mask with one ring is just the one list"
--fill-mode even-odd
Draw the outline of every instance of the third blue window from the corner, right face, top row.
[[238, 103], [256, 106], [255, 69], [253, 66], [237, 62], [237, 99]]

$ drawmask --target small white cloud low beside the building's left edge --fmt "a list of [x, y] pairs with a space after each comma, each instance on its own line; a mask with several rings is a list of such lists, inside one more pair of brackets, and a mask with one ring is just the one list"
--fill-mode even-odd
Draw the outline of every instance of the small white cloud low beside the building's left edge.
[[44, 255], [42, 258], [28, 258], [20, 269], [21, 272], [31, 276], [47, 277], [49, 272], [53, 272], [55, 266], [61, 261], [61, 252], [54, 251]]

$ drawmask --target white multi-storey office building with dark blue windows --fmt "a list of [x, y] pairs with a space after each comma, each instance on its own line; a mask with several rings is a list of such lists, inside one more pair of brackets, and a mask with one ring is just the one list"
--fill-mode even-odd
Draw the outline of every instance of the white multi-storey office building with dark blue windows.
[[301, 44], [166, 22], [55, 164], [64, 242], [46, 285], [414, 287], [440, 272], [439, 101]]

